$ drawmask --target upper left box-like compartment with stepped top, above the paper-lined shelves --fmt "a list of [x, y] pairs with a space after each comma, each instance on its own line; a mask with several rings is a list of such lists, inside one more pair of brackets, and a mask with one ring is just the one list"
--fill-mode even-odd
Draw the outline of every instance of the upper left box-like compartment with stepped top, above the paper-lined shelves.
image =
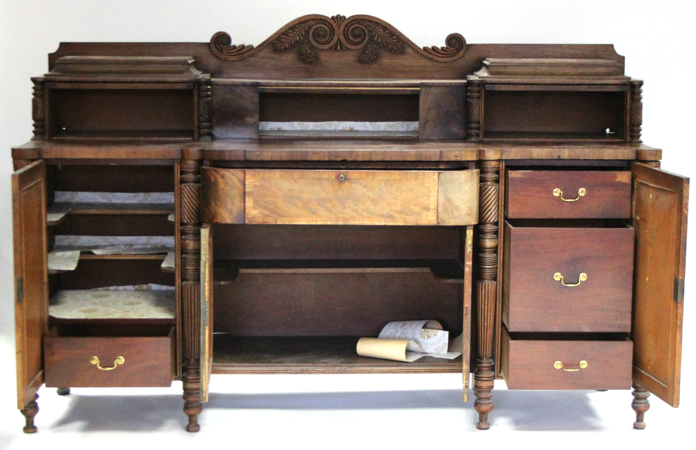
[[35, 102], [45, 104], [44, 122], [38, 124], [43, 136], [35, 138], [209, 138], [209, 120], [196, 120], [201, 103], [210, 101], [209, 76], [194, 63], [187, 56], [58, 58], [54, 70], [33, 79]]

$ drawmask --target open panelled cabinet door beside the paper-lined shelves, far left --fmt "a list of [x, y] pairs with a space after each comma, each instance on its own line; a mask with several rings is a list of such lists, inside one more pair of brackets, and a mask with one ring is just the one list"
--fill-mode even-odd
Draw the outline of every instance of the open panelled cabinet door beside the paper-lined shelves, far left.
[[41, 341], [48, 330], [46, 165], [41, 159], [12, 175], [15, 230], [17, 408], [43, 384]]

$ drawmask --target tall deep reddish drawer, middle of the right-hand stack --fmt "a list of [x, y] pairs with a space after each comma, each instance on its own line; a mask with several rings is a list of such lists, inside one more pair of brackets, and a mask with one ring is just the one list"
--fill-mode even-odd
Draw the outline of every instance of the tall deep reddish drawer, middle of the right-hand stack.
[[[601, 221], [597, 222], [592, 225], [599, 226]], [[635, 230], [627, 225], [541, 225], [551, 224], [505, 221], [503, 321], [507, 329], [630, 331]], [[557, 280], [556, 273], [562, 278]], [[586, 279], [580, 281], [583, 273]]]

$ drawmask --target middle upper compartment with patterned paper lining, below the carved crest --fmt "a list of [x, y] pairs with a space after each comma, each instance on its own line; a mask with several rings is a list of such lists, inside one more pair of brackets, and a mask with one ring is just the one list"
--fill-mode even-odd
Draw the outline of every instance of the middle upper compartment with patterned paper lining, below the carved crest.
[[464, 139], [464, 80], [212, 83], [215, 138]]

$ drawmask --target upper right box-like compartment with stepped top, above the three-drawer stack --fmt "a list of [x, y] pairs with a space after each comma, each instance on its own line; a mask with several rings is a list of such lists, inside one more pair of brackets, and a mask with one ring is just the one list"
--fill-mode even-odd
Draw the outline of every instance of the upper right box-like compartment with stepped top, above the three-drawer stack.
[[468, 77], [468, 137], [640, 142], [640, 86], [608, 59], [488, 58]]

